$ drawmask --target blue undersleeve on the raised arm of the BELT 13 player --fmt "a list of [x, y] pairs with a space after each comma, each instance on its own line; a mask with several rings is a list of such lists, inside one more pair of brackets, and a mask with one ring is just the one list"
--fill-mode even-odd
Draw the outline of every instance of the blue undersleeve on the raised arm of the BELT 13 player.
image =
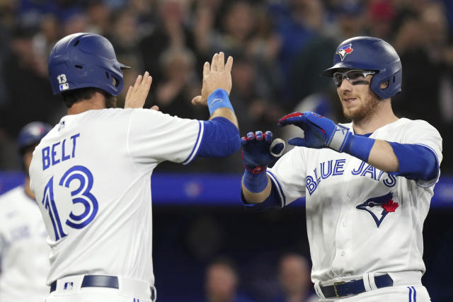
[[239, 150], [239, 129], [224, 117], [203, 121], [204, 131], [197, 156], [224, 157]]

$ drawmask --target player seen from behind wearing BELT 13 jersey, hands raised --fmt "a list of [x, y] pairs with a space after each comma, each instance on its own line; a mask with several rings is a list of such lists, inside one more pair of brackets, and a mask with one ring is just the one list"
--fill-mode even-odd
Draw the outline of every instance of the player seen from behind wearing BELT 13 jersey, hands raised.
[[210, 120], [185, 120], [142, 108], [147, 72], [129, 88], [127, 108], [108, 108], [122, 91], [126, 67], [110, 42], [92, 33], [57, 42], [50, 82], [68, 115], [42, 139], [30, 165], [52, 248], [47, 302], [155, 301], [151, 174], [162, 161], [186, 165], [239, 149], [229, 102], [232, 64], [222, 52], [205, 63], [193, 103], [208, 105]]

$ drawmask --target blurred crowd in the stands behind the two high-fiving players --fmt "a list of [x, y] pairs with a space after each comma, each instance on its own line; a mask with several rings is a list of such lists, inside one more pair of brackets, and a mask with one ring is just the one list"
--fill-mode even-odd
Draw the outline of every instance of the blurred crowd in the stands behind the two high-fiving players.
[[[1, 0], [0, 169], [19, 169], [16, 137], [24, 124], [56, 124], [65, 114], [52, 95], [47, 57], [64, 35], [93, 32], [113, 43], [125, 85], [153, 76], [147, 107], [207, 119], [190, 100], [200, 93], [202, 64], [214, 52], [234, 57], [231, 103], [241, 135], [277, 128], [294, 110], [345, 122], [333, 81], [319, 76], [348, 37], [391, 43], [403, 64], [400, 117], [427, 120], [444, 138], [443, 171], [453, 171], [453, 1], [449, 0]], [[372, 59], [372, 58], [370, 58]], [[119, 97], [124, 104], [127, 89]], [[239, 156], [189, 170], [236, 173]], [[163, 165], [178, 170], [179, 165]], [[187, 167], [184, 170], [188, 170]]]

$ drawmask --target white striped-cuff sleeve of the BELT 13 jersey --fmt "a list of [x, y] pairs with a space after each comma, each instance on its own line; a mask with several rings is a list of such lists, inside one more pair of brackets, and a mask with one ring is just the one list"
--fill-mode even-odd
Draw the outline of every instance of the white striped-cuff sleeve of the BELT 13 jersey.
[[188, 164], [197, 155], [202, 134], [201, 121], [135, 109], [127, 131], [127, 149], [137, 163]]

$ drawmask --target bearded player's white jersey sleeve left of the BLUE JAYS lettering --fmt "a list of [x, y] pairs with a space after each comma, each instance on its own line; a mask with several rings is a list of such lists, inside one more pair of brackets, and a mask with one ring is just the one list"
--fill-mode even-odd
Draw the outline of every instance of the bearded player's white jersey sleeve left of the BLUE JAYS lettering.
[[295, 147], [285, 153], [267, 173], [277, 189], [280, 207], [305, 196], [306, 170], [302, 147]]

